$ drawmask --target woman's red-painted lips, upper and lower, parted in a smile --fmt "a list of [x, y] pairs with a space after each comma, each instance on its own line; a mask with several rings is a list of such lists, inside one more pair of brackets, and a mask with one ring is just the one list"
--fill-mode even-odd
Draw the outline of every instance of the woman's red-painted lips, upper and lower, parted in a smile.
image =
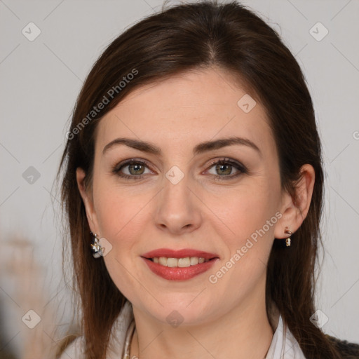
[[[177, 259], [178, 262], [180, 262], [180, 260], [188, 261], [188, 259], [194, 258], [197, 260], [194, 260], [194, 262], [191, 260], [191, 263], [193, 262], [193, 264], [190, 266], [182, 267], [166, 265], [167, 262], [168, 264], [170, 262], [177, 262]], [[208, 269], [210, 269], [210, 267], [217, 262], [219, 256], [199, 250], [170, 250], [162, 248], [144, 253], [144, 255], [142, 255], [142, 259], [147, 264], [149, 269], [157, 276], [167, 280], [188, 280], [204, 273], [205, 271], [208, 271]], [[156, 262], [154, 262], [154, 259], [156, 259]], [[158, 259], [160, 259], [159, 262]], [[166, 260], [163, 261], [161, 259]]]

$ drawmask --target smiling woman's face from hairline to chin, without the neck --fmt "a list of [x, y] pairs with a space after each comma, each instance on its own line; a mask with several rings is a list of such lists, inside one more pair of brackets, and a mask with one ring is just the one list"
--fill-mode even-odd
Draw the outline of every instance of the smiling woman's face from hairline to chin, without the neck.
[[263, 309], [287, 198], [264, 108], [220, 69], [139, 88], [97, 128], [90, 228], [118, 289], [160, 322]]

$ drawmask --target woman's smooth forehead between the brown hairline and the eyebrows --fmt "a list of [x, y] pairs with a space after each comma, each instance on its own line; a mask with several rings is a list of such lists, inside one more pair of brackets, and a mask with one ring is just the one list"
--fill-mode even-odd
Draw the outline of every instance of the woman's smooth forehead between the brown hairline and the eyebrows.
[[233, 135], [248, 138], [262, 151], [273, 148], [262, 105], [238, 86], [233, 75], [207, 69], [133, 90], [100, 121], [96, 147], [103, 149], [116, 137], [126, 136], [178, 150]]

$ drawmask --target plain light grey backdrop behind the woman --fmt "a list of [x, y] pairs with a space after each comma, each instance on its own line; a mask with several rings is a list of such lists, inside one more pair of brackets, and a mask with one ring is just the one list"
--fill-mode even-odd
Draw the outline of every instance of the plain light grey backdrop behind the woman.
[[[325, 332], [359, 342], [359, 1], [242, 3], [279, 32], [306, 76], [325, 162], [325, 257], [316, 304], [329, 319]], [[54, 325], [66, 327], [70, 318], [71, 297], [61, 281], [60, 199], [52, 187], [76, 96], [104, 48], [162, 4], [0, 1], [0, 245], [14, 233], [29, 239], [46, 273], [43, 295], [62, 308]], [[41, 31], [33, 41], [25, 36], [30, 26], [32, 36]], [[6, 340], [16, 348], [27, 330], [19, 313], [31, 308], [16, 306], [20, 298], [9, 278], [0, 276], [0, 285]]]

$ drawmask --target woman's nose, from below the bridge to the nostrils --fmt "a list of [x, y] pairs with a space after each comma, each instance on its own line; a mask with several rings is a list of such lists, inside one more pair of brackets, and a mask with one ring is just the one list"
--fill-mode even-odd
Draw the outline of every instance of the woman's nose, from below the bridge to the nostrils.
[[187, 176], [177, 184], [168, 179], [158, 194], [154, 221], [162, 231], [180, 235], [191, 233], [201, 226], [201, 201], [189, 187]]

